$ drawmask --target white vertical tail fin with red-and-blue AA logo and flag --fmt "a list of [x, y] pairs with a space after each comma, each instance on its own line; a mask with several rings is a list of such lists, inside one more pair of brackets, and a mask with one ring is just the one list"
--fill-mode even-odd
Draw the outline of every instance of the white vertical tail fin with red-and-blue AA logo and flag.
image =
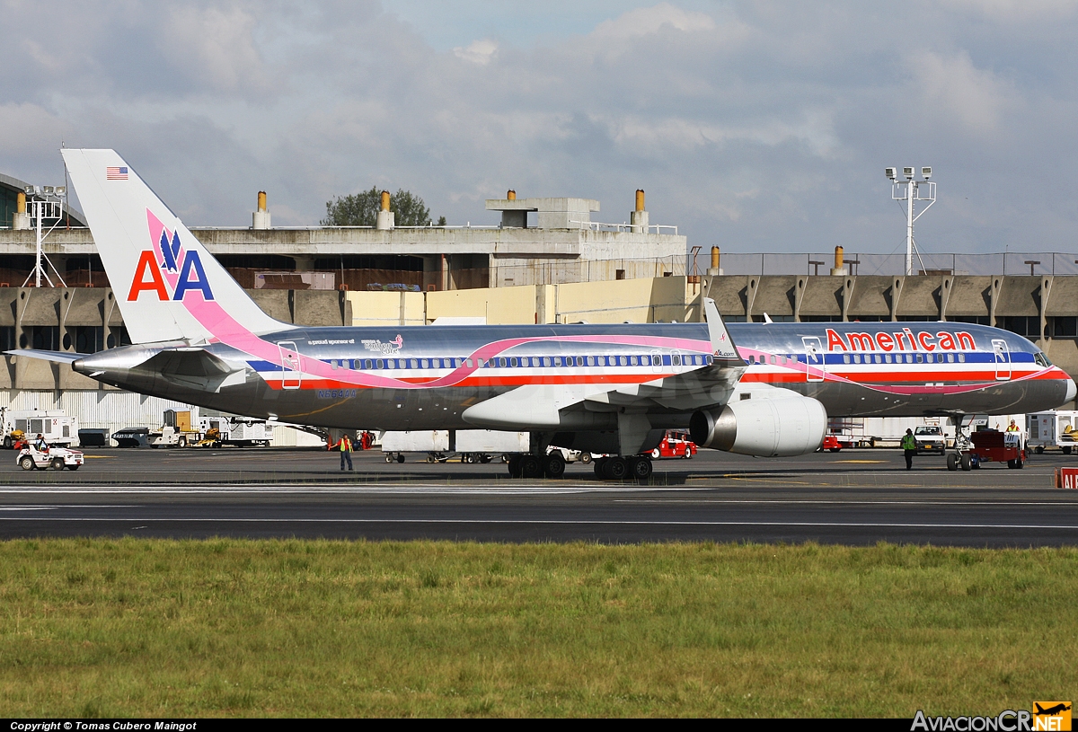
[[115, 151], [63, 154], [134, 343], [292, 328], [263, 313]]

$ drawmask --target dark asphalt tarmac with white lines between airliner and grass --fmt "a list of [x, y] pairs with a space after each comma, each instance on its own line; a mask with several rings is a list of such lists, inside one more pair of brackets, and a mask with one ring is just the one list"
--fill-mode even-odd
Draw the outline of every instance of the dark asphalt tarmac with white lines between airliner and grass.
[[657, 461], [646, 486], [602, 482], [590, 466], [525, 481], [500, 464], [397, 465], [376, 453], [356, 454], [354, 473], [318, 451], [88, 455], [78, 473], [0, 462], [0, 538], [1078, 544], [1078, 492], [1052, 487], [1053, 468], [1074, 464], [1059, 454], [964, 473], [939, 456], [906, 471], [885, 450], [782, 460], [703, 451]]

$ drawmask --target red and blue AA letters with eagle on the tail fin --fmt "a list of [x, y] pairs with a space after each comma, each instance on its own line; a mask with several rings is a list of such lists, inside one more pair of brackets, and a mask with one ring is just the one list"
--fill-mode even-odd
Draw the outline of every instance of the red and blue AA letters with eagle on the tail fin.
[[[149, 210], [147, 217], [150, 240], [155, 246], [139, 254], [127, 301], [137, 301], [143, 292], [152, 292], [160, 301], [182, 301], [189, 292], [201, 292], [204, 301], [213, 300], [213, 290], [198, 252], [185, 249], [180, 243], [179, 231], [168, 231]], [[153, 234], [154, 224], [161, 226], [160, 237]]]

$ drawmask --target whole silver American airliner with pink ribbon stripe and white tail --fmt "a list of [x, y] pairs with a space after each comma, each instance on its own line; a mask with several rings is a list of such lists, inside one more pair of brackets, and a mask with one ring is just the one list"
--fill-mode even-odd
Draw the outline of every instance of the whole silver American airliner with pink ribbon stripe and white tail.
[[1037, 412], [1075, 383], [1029, 341], [952, 322], [306, 328], [263, 313], [112, 150], [64, 150], [135, 345], [18, 350], [140, 393], [327, 429], [533, 434], [510, 461], [558, 477], [549, 445], [646, 478], [663, 430], [788, 456], [831, 416]]

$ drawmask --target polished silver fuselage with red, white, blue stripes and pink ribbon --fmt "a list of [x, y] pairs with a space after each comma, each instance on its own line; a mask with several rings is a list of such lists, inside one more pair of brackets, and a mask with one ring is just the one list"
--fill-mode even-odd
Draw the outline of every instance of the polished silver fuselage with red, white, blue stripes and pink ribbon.
[[[1074, 398], [1074, 383], [1037, 346], [983, 326], [728, 329], [747, 364], [735, 390], [789, 389], [831, 416], [1036, 412]], [[204, 348], [227, 374], [182, 348], [147, 362], [154, 346], [101, 351], [73, 368], [142, 393], [343, 429], [469, 429], [465, 410], [524, 385], [651, 393], [646, 412], [655, 428], [682, 427], [692, 409], [732, 396], [708, 378], [718, 367], [706, 323], [326, 327], [251, 337], [257, 343]], [[167, 359], [175, 361], [162, 369]], [[595, 416], [593, 425], [612, 428], [616, 417], [608, 423]]]

